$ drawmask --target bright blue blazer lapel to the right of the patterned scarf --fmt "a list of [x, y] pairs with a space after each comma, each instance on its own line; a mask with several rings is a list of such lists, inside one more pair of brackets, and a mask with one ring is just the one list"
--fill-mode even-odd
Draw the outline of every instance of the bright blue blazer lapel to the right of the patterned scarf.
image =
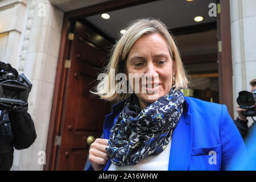
[[169, 171], [188, 170], [191, 158], [192, 147], [192, 114], [188, 113], [188, 101], [185, 106], [180, 121], [172, 134], [171, 152], [169, 159]]

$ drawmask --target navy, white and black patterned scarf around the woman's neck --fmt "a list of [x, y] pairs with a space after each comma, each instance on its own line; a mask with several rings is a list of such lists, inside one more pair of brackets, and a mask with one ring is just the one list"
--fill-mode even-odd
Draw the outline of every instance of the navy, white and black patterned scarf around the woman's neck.
[[[147, 155], [156, 155], [168, 145], [185, 101], [180, 90], [168, 94], [141, 110], [138, 97], [131, 94], [111, 129], [108, 152], [117, 166], [135, 165]], [[130, 138], [131, 133], [135, 134]]]

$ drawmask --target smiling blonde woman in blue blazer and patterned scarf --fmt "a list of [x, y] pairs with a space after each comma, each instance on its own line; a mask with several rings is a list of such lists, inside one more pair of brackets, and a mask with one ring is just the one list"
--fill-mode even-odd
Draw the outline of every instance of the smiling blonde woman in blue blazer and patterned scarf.
[[102, 78], [92, 93], [121, 102], [89, 148], [88, 170], [220, 170], [245, 149], [225, 105], [181, 92], [187, 75], [160, 20], [131, 22]]

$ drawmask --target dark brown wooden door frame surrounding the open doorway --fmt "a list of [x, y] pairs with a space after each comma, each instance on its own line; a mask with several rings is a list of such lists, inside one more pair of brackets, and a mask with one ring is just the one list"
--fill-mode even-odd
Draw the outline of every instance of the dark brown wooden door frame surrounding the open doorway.
[[[60, 51], [57, 61], [55, 86], [53, 91], [52, 109], [49, 120], [49, 129], [46, 145], [46, 164], [43, 170], [54, 170], [56, 161], [57, 146], [55, 145], [55, 136], [59, 135], [61, 111], [63, 109], [65, 78], [67, 76], [67, 69], [64, 68], [65, 60], [68, 59], [68, 53], [71, 42], [68, 39], [68, 34], [72, 28], [71, 24], [77, 19], [85, 16], [96, 15], [106, 11], [113, 11], [122, 9], [124, 7], [137, 6], [143, 3], [159, 1], [159, 0], [114, 0], [100, 3], [97, 5], [84, 7], [82, 9], [69, 11], [64, 13], [63, 28], [61, 31]], [[219, 64], [219, 90], [220, 103], [228, 106], [230, 115], [233, 116], [233, 87], [232, 87], [232, 54], [231, 54], [231, 36], [230, 36], [230, 14], [229, 14], [229, 0], [220, 0], [223, 16], [220, 16], [220, 32], [222, 35], [222, 48], [226, 52], [218, 54]], [[227, 60], [222, 64], [220, 60]], [[226, 83], [226, 84], [224, 84]]]

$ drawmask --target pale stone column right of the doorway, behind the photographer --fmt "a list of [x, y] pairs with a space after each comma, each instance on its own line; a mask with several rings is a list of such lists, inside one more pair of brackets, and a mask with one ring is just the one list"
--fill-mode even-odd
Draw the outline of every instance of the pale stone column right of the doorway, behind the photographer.
[[[230, 22], [234, 118], [237, 118], [238, 93], [241, 90], [250, 92], [251, 86], [249, 82], [256, 78], [256, 1], [231, 0]], [[251, 125], [253, 121], [251, 118], [248, 119], [249, 125]]]

